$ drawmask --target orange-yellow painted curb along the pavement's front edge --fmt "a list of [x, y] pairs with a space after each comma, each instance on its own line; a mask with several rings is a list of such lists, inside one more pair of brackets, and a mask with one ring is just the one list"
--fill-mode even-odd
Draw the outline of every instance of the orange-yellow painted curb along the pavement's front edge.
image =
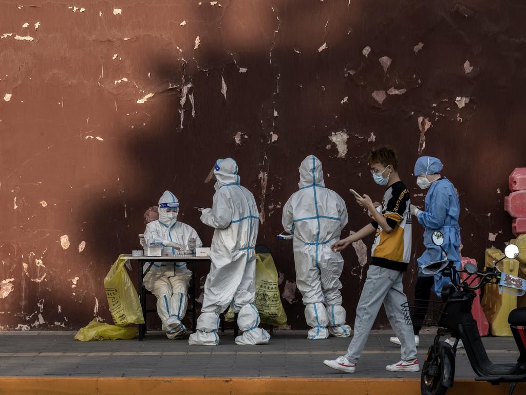
[[[0, 377], [0, 395], [420, 395], [420, 379], [242, 377]], [[515, 393], [526, 393], [521, 383]], [[457, 380], [448, 395], [507, 395], [508, 386]]]

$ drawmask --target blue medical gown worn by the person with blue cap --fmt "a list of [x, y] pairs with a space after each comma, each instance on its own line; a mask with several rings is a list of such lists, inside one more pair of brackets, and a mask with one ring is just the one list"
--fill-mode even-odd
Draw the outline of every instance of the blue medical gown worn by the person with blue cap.
[[[433, 182], [426, 195], [426, 211], [418, 215], [418, 222], [424, 226], [424, 245], [426, 251], [417, 259], [418, 265], [436, 262], [443, 259], [439, 246], [434, 245], [431, 235], [440, 231], [444, 235], [442, 248], [446, 250], [448, 259], [460, 269], [460, 202], [457, 191], [451, 181], [442, 177]], [[449, 277], [442, 274], [434, 276], [433, 292], [441, 297], [442, 287], [451, 283]]]

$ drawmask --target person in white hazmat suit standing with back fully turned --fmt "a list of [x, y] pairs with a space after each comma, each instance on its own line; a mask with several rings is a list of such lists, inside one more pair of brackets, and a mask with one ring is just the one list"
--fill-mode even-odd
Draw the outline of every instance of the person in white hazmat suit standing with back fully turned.
[[301, 162], [299, 178], [299, 191], [285, 204], [281, 222], [294, 234], [296, 282], [303, 295], [305, 319], [312, 327], [307, 338], [349, 337], [351, 328], [345, 324], [340, 294], [343, 258], [331, 250], [347, 225], [347, 208], [340, 195], [325, 187], [316, 156]]

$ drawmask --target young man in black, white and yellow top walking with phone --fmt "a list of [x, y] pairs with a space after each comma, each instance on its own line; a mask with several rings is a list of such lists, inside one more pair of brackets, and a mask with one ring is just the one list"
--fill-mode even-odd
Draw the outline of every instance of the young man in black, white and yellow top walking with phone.
[[411, 255], [411, 213], [409, 191], [397, 173], [398, 159], [395, 151], [383, 147], [371, 151], [369, 166], [373, 180], [387, 186], [382, 204], [375, 208], [371, 198], [356, 197], [357, 203], [369, 210], [373, 220], [358, 232], [332, 245], [341, 251], [350, 244], [376, 232], [371, 249], [371, 262], [356, 309], [355, 331], [347, 354], [335, 360], [323, 361], [328, 367], [354, 373], [365, 347], [369, 332], [383, 303], [392, 329], [401, 342], [402, 359], [388, 365], [392, 372], [418, 372], [417, 348], [413, 329], [406, 323], [401, 304], [407, 302], [403, 293], [402, 276]]

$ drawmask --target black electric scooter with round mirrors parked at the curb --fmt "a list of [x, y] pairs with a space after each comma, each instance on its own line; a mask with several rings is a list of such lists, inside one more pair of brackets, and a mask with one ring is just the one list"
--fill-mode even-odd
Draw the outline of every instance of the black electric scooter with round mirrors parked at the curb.
[[[433, 232], [433, 243], [442, 248], [444, 241], [440, 232]], [[517, 258], [519, 248], [517, 245], [509, 244], [504, 254], [506, 258]], [[502, 258], [504, 259], [504, 258]], [[501, 260], [502, 260], [501, 259]], [[459, 339], [464, 344], [473, 371], [477, 374], [477, 381], [488, 381], [492, 385], [509, 383], [509, 395], [518, 382], [526, 381], [526, 308], [514, 309], [508, 316], [508, 323], [517, 342], [519, 359], [516, 363], [495, 364], [490, 361], [479, 335], [477, 322], [471, 314], [473, 299], [477, 297], [474, 292], [485, 284], [499, 284], [501, 290], [523, 294], [526, 290], [526, 280], [503, 273], [498, 269], [495, 262], [493, 268], [487, 268], [479, 272], [477, 266], [471, 263], [464, 265], [463, 270], [457, 270], [451, 262], [446, 259], [436, 262], [437, 273], [451, 278], [452, 284], [442, 289], [443, 305], [438, 320], [437, 336], [428, 350], [424, 361], [420, 379], [420, 390], [422, 395], [443, 395], [449, 387], [453, 386], [455, 372], [455, 355]], [[432, 270], [432, 268], [427, 268]], [[459, 273], [468, 273], [468, 278], [460, 281]], [[477, 283], [476, 280], [479, 279]], [[507, 288], [511, 286], [511, 288]], [[522, 292], [522, 293], [520, 293]], [[456, 341], [450, 344], [440, 341], [441, 336], [454, 337]]]

